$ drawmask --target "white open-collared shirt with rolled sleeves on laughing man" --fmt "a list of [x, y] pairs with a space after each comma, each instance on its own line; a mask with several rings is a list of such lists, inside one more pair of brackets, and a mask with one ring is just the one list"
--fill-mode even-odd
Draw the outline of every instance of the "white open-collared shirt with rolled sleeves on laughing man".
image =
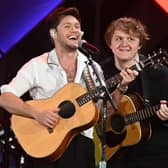
[[[84, 87], [86, 85], [82, 72], [86, 67], [86, 61], [88, 59], [81, 52], [78, 52], [77, 72], [74, 82], [80, 83]], [[100, 75], [103, 74], [97, 63], [96, 67]], [[53, 49], [49, 53], [35, 57], [23, 65], [9, 84], [1, 86], [1, 93], [12, 92], [20, 97], [29, 91], [33, 99], [44, 99], [53, 96], [65, 84], [67, 84], [66, 72], [61, 67]], [[93, 138], [93, 128], [82, 131], [81, 134]]]

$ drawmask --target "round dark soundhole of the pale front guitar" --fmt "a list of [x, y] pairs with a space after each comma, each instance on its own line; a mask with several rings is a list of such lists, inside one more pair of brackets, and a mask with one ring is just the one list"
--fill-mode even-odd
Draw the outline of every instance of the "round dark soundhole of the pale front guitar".
[[62, 118], [70, 118], [75, 113], [75, 106], [69, 100], [63, 101], [58, 107], [60, 108], [59, 115]]

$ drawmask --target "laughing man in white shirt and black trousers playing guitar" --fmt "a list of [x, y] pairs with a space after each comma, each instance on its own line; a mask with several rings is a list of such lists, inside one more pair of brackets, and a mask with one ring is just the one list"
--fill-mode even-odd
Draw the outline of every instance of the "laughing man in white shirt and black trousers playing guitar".
[[[49, 32], [55, 48], [27, 62], [8, 85], [1, 86], [0, 106], [10, 113], [33, 118], [44, 127], [54, 129], [61, 120], [58, 114], [59, 107], [42, 110], [22, 101], [19, 97], [29, 91], [35, 100], [50, 98], [63, 86], [72, 82], [85, 87], [82, 72], [86, 66], [87, 57], [78, 51], [78, 44], [83, 32], [81, 31], [79, 12], [76, 8], [58, 9], [56, 15], [52, 16], [52, 20], [50, 20]], [[100, 66], [95, 64], [101, 78], [103, 78]], [[121, 75], [123, 80], [120, 87], [122, 88], [134, 80], [138, 72], [128, 69], [122, 71]], [[94, 82], [96, 84], [96, 81]], [[75, 89], [69, 91], [78, 92]], [[120, 100], [122, 95], [118, 90], [113, 94], [117, 97], [116, 101]], [[94, 168], [92, 133], [93, 128], [89, 128], [76, 135], [56, 161], [49, 162], [43, 158], [32, 158], [31, 167]]]

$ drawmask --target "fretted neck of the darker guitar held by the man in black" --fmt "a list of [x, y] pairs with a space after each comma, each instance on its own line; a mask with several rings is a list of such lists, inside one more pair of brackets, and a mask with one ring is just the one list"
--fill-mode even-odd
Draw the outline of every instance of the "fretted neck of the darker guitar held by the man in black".
[[160, 105], [156, 105], [156, 106], [152, 106], [152, 107], [148, 107], [148, 108], [136, 111], [134, 113], [127, 114], [124, 117], [125, 124], [128, 125], [136, 121], [142, 121], [144, 119], [148, 119], [152, 117], [157, 110], [159, 110], [159, 107]]

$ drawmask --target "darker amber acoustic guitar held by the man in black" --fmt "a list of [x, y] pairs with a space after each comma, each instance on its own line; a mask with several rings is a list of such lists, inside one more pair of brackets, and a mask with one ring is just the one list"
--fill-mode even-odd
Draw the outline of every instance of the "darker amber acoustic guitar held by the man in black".
[[[154, 116], [160, 104], [144, 108], [143, 99], [139, 94], [124, 95], [118, 106], [119, 113], [113, 112], [107, 116], [106, 125], [106, 150], [105, 157], [109, 160], [122, 147], [135, 145], [141, 141], [150, 139], [151, 125], [148, 119]], [[100, 128], [99, 128], [100, 129]], [[100, 131], [98, 131], [100, 132]], [[100, 136], [95, 136], [100, 138]], [[99, 151], [100, 152], [100, 145]], [[96, 156], [100, 160], [101, 154]]]

